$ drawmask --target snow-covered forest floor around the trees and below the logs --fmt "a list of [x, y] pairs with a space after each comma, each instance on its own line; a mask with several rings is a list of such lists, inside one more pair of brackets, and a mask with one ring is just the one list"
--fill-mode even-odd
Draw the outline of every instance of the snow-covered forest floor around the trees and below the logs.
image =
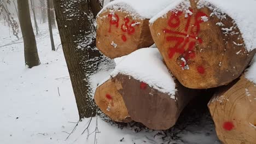
[[[219, 143], [207, 101], [197, 102], [195, 109], [187, 107], [175, 127], [165, 131], [138, 123], [106, 122], [104, 116], [83, 119], [75, 127], [79, 116], [57, 29], [53, 31], [57, 51], [51, 51], [48, 24], [39, 25], [36, 40], [41, 64], [32, 69], [25, 67], [22, 39], [17, 40], [3, 22], [0, 31], [1, 144]], [[93, 87], [109, 73], [92, 76]]]

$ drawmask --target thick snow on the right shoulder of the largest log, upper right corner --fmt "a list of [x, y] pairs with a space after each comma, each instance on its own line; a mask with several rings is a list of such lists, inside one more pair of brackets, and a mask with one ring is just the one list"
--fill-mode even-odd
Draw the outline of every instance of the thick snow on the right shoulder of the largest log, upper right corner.
[[[220, 11], [235, 20], [242, 33], [248, 51], [256, 49], [256, 1], [254, 0], [200, 0], [198, 7], [213, 4]], [[211, 7], [208, 5], [208, 7]], [[225, 15], [222, 15], [225, 16]]]

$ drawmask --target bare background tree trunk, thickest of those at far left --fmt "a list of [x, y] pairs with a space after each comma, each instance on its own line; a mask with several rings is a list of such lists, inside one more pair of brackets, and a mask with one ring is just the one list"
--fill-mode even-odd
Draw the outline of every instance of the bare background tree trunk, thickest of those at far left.
[[36, 65], [39, 65], [40, 61], [37, 53], [36, 38], [34, 37], [31, 23], [30, 8], [28, 5], [28, 0], [17, 0], [17, 3], [20, 28], [24, 40], [25, 64], [28, 65], [28, 68], [32, 68]]

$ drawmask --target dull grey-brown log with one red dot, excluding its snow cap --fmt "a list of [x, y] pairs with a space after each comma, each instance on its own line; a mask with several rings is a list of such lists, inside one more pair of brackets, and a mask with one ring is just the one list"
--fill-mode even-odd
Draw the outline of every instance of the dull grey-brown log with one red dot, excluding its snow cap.
[[171, 95], [159, 92], [132, 76], [118, 74], [113, 80], [133, 121], [141, 122], [150, 129], [171, 128], [185, 105], [197, 94], [195, 90], [183, 87], [178, 81], [173, 99]]

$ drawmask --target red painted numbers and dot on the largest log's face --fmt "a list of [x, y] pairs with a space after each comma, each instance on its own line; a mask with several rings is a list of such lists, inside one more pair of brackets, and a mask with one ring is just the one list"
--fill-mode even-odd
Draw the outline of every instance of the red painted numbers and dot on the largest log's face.
[[[190, 10], [190, 11], [193, 12], [192, 10]], [[179, 25], [181, 25], [181, 20], [179, 19], [181, 14], [182, 14], [182, 12], [178, 12], [177, 14], [172, 13], [172, 15], [170, 16], [170, 18], [168, 20], [168, 26], [171, 28], [179, 27]], [[171, 29], [167, 29], [167, 28], [163, 29], [164, 33], [173, 35], [173, 36], [167, 36], [166, 40], [175, 42], [174, 46], [169, 48], [169, 51], [168, 51], [169, 58], [172, 58], [175, 55], [175, 53], [179, 53], [179, 55], [182, 55], [182, 57], [186, 61], [189, 61], [190, 59], [193, 59], [196, 57], [195, 51], [194, 51], [196, 41], [198, 41], [200, 44], [202, 44], [202, 42], [203, 42], [201, 38], [198, 38], [198, 34], [200, 32], [200, 23], [203, 22], [203, 20], [201, 19], [201, 16], [207, 16], [207, 15], [201, 11], [199, 11], [195, 14], [195, 16], [194, 16], [195, 23], [194, 23], [193, 27], [190, 28], [190, 34], [188, 32], [189, 32], [189, 26], [190, 26], [192, 16], [189, 14], [188, 14], [187, 23], [185, 25], [184, 33], [178, 32], [178, 31], [172, 31]], [[182, 37], [180, 37], [180, 36], [182, 36]], [[192, 40], [192, 41], [190, 41], [190, 40]], [[188, 47], [187, 50], [185, 50], [185, 47]], [[181, 61], [181, 65], [184, 68], [185, 62]], [[197, 71], [200, 74], [205, 73], [205, 69], [201, 66], [197, 67]]]

